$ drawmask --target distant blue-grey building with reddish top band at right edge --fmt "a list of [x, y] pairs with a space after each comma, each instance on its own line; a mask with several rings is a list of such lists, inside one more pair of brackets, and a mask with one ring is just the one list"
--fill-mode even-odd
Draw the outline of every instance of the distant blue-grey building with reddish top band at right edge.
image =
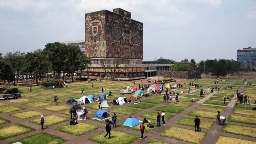
[[248, 47], [237, 50], [237, 61], [242, 62], [242, 67], [252, 69], [256, 63], [256, 48]]

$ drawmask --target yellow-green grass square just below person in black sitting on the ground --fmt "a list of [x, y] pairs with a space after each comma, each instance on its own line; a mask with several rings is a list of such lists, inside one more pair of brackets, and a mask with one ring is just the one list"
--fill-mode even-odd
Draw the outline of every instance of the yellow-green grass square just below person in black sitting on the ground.
[[74, 125], [74, 126], [67, 124], [67, 125], [57, 127], [56, 130], [59, 130], [68, 134], [72, 134], [75, 136], [80, 136], [98, 128], [100, 128], [100, 126], [79, 122], [77, 125]]

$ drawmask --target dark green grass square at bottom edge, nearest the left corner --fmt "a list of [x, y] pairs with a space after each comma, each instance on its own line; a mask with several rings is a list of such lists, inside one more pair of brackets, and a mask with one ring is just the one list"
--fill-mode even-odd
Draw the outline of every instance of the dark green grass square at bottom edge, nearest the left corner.
[[48, 134], [46, 132], [41, 132], [20, 140], [9, 142], [8, 144], [13, 144], [15, 142], [21, 142], [23, 144], [61, 144], [66, 141], [66, 139], [63, 139], [61, 137]]

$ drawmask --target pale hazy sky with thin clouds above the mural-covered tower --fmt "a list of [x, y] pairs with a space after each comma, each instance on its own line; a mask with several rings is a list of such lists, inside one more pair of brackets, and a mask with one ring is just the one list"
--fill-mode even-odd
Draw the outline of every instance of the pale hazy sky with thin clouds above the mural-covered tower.
[[122, 8], [143, 22], [143, 60], [235, 59], [256, 47], [256, 0], [0, 0], [0, 53], [85, 39], [88, 12]]

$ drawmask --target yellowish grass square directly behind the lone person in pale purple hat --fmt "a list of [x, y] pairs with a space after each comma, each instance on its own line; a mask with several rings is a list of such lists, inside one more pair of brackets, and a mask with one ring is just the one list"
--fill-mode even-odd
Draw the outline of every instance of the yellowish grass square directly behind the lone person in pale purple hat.
[[[30, 122], [35, 123], [40, 125], [39, 123], [40, 117], [38, 117], [37, 119], [33, 119], [30, 120]], [[49, 115], [49, 116], [45, 116], [45, 122], [44, 122], [44, 126], [52, 126], [61, 122], [65, 122], [68, 121], [69, 119], [64, 118], [64, 117], [60, 117], [60, 116], [56, 116], [56, 115]]]

